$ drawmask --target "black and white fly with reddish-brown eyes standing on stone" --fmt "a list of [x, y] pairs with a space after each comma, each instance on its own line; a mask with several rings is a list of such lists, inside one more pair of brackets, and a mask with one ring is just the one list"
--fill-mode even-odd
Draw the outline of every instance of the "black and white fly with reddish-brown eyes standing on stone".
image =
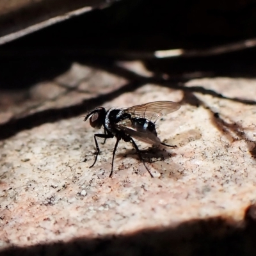
[[[104, 134], [94, 134], [94, 140], [96, 145], [96, 156], [92, 166], [96, 163], [97, 157], [99, 155], [100, 149], [97, 141], [97, 137], [106, 139], [116, 137], [116, 143], [113, 150], [112, 166], [109, 177], [113, 173], [113, 164], [116, 153], [116, 148], [120, 140], [126, 142], [131, 142], [135, 148], [140, 160], [143, 162], [145, 168], [151, 177], [152, 173], [148, 170], [146, 164], [144, 163], [140, 150], [136, 145], [136, 140], [143, 141], [153, 146], [164, 145], [168, 147], [175, 147], [172, 145], [167, 145], [160, 141], [157, 137], [155, 123], [163, 115], [170, 114], [180, 108], [180, 104], [172, 101], [156, 101], [149, 102], [142, 105], [136, 105], [131, 108], [116, 109], [111, 108], [106, 110], [105, 108], [99, 107], [90, 111], [88, 115], [85, 116], [84, 121], [90, 118], [90, 125], [93, 128], [100, 129], [104, 128]], [[92, 167], [90, 166], [90, 168]]]

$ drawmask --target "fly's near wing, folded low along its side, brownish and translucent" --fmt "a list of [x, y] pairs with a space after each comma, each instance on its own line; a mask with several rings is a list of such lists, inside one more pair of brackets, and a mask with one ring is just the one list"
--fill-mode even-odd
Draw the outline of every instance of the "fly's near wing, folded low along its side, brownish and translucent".
[[131, 120], [123, 120], [116, 125], [116, 129], [124, 131], [125, 134], [135, 138], [136, 140], [143, 141], [150, 145], [159, 145], [161, 141], [156, 134], [143, 128], [141, 125], [132, 125]]

